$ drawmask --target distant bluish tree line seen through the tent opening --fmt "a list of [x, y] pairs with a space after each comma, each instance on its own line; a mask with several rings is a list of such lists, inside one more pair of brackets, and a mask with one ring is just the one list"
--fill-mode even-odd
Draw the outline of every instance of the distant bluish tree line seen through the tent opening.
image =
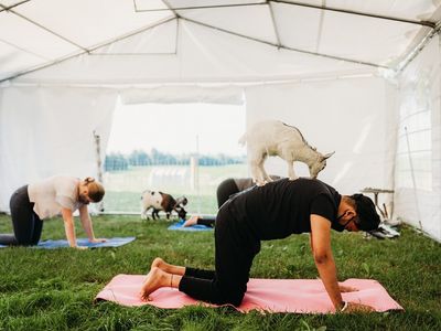
[[[129, 167], [144, 167], [144, 166], [190, 166], [190, 159], [195, 154], [180, 154], [161, 152], [152, 149], [150, 152], [143, 150], [133, 150], [129, 154], [114, 152], [106, 154], [104, 162], [105, 171], [123, 171]], [[197, 156], [198, 166], [226, 166], [244, 163], [245, 156], [227, 156], [219, 153], [216, 156]]]

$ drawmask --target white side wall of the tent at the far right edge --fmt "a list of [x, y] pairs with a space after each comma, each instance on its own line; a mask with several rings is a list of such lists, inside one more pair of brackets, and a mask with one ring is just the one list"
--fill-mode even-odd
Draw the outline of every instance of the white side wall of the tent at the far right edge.
[[[441, 39], [400, 77], [396, 216], [441, 241]], [[421, 223], [420, 223], [421, 222]]]

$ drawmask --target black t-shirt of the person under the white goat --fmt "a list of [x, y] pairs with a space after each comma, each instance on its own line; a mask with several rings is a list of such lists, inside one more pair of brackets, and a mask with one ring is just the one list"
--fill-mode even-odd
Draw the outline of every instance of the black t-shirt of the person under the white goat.
[[254, 186], [224, 206], [232, 211], [232, 222], [243, 223], [240, 227], [249, 228], [258, 239], [269, 241], [311, 232], [311, 214], [330, 220], [332, 228], [342, 231], [336, 221], [341, 199], [322, 181], [299, 178]]

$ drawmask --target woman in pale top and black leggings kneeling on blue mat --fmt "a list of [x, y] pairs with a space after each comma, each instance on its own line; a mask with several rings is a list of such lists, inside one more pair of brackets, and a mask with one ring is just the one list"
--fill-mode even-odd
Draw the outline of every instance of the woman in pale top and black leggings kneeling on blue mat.
[[79, 218], [90, 243], [104, 243], [95, 238], [87, 205], [103, 200], [103, 185], [88, 177], [56, 175], [18, 189], [11, 196], [10, 209], [13, 234], [0, 234], [1, 245], [30, 246], [40, 241], [44, 218], [61, 214], [71, 247], [78, 247], [75, 236], [73, 212], [79, 211]]

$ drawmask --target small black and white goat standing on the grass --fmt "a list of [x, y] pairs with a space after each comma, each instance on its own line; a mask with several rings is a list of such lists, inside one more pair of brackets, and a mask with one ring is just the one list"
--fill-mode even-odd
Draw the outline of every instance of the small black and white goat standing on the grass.
[[147, 220], [147, 212], [152, 209], [152, 218], [159, 218], [159, 212], [164, 211], [166, 218], [170, 218], [170, 215], [173, 211], [178, 213], [178, 216], [181, 220], [185, 220], [186, 211], [184, 206], [187, 203], [187, 199], [185, 196], [178, 197], [176, 200], [166, 193], [160, 191], [150, 191], [147, 190], [142, 192], [141, 195], [141, 218]]

